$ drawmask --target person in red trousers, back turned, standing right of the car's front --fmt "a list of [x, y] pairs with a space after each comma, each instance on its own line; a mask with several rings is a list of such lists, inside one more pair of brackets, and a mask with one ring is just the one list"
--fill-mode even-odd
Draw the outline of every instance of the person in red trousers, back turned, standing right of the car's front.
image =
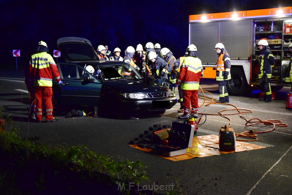
[[187, 47], [187, 57], [180, 67], [177, 85], [183, 91], [183, 108], [184, 113], [178, 119], [189, 118], [190, 108], [194, 111], [195, 118], [198, 117], [198, 89], [199, 81], [203, 77], [203, 67], [201, 60], [198, 58], [197, 47], [191, 44]]

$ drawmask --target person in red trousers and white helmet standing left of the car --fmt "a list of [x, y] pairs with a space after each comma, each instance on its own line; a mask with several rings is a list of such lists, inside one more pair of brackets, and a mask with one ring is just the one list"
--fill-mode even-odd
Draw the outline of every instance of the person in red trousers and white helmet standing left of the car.
[[40, 41], [36, 53], [32, 55], [29, 61], [29, 73], [33, 80], [36, 96], [36, 122], [41, 122], [43, 112], [46, 122], [56, 122], [58, 120], [53, 117], [52, 74], [58, 84], [62, 84], [62, 81], [53, 57], [47, 54], [47, 51], [49, 51], [47, 44]]

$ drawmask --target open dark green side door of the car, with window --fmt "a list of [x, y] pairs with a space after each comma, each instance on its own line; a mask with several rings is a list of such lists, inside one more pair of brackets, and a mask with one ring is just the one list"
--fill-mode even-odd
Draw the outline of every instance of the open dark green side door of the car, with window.
[[[60, 104], [98, 106], [102, 83], [76, 64], [60, 63]], [[92, 79], [88, 80], [87, 77]]]

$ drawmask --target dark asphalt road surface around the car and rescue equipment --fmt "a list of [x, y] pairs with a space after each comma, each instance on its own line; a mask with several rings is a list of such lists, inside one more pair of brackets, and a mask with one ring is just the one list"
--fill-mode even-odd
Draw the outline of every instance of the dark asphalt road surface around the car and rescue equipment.
[[[140, 160], [147, 166], [149, 177], [149, 181], [140, 185], [150, 185], [150, 188], [155, 182], [155, 185], [163, 186], [178, 183], [182, 185], [182, 194], [291, 194], [292, 112], [285, 108], [288, 87], [276, 92], [276, 99], [270, 103], [258, 101], [258, 91], [246, 96], [230, 96], [231, 104], [252, 111], [244, 114], [247, 119], [274, 119], [288, 124], [288, 127], [276, 127], [272, 132], [258, 134], [258, 141], [253, 144], [267, 148], [173, 162], [129, 147], [128, 143], [155, 124], [171, 125], [173, 121], [181, 121], [177, 119], [181, 115], [177, 112], [179, 104], [162, 116], [140, 119], [64, 118], [61, 113], [55, 115], [58, 122], [32, 123], [27, 120], [28, 94], [23, 75], [23, 72], [0, 71], [0, 106], [4, 114], [13, 118], [13, 127], [19, 130], [21, 137], [38, 136], [41, 143], [48, 145], [83, 144], [100, 155], [112, 156], [115, 161]], [[215, 81], [202, 79], [200, 86], [211, 92], [214, 99], [219, 98]], [[214, 104], [202, 106], [199, 112], [216, 114], [229, 108], [233, 107]], [[236, 133], [269, 129], [262, 125], [246, 127], [246, 121], [239, 115], [229, 118]], [[218, 135], [225, 124], [228, 124], [227, 119], [207, 115], [196, 136]]]

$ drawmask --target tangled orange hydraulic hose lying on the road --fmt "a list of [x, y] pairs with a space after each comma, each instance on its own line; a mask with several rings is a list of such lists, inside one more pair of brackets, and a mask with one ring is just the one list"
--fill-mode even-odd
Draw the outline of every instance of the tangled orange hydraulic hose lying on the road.
[[[200, 102], [199, 103], [202, 103], [201, 106], [199, 107], [202, 107], [203, 105], [205, 106], [209, 106], [210, 104], [215, 104], [216, 102], [213, 101], [213, 95], [210, 93], [210, 92], [207, 92], [207, 91], [203, 91], [201, 86], [199, 86], [200, 88], [200, 91], [198, 92], [202, 92], [203, 93], [203, 98], [204, 98], [204, 101], [203, 102]], [[207, 99], [206, 96], [205, 96], [205, 93], [208, 93], [211, 95], [212, 99]], [[209, 102], [206, 102], [206, 100], [209, 100]], [[245, 139], [236, 139], [236, 141], [257, 141], [258, 138], [256, 138], [257, 134], [255, 133], [267, 133], [267, 132], [270, 132], [270, 131], [273, 131], [275, 129], [275, 127], [288, 127], [287, 124], [283, 123], [281, 120], [265, 120], [265, 121], [262, 121], [258, 118], [252, 118], [250, 120], [247, 120], [244, 116], [242, 116], [241, 114], [243, 113], [252, 113], [251, 110], [247, 110], [247, 109], [243, 109], [243, 108], [237, 108], [236, 106], [230, 104], [230, 103], [220, 103], [220, 104], [226, 104], [226, 105], [230, 105], [230, 106], [233, 106], [234, 108], [232, 109], [224, 109], [224, 110], [221, 110], [221, 111], [218, 111], [218, 114], [210, 114], [210, 113], [199, 113], [199, 114], [205, 114], [205, 115], [220, 115], [226, 119], [229, 120], [229, 126], [228, 127], [231, 127], [231, 119], [228, 118], [226, 115], [236, 115], [236, 114], [239, 114], [239, 117], [246, 120], [246, 124], [245, 126], [249, 127], [249, 126], [252, 126], [252, 125], [257, 125], [257, 124], [264, 124], [266, 126], [272, 126], [272, 128], [270, 130], [266, 130], [266, 131], [244, 131], [244, 132], [241, 132], [241, 133], [235, 133], [236, 137], [249, 137], [251, 139], [248, 139], [248, 140], [245, 140]], [[228, 113], [228, 114], [223, 114], [224, 111], [237, 111], [236, 113]]]

